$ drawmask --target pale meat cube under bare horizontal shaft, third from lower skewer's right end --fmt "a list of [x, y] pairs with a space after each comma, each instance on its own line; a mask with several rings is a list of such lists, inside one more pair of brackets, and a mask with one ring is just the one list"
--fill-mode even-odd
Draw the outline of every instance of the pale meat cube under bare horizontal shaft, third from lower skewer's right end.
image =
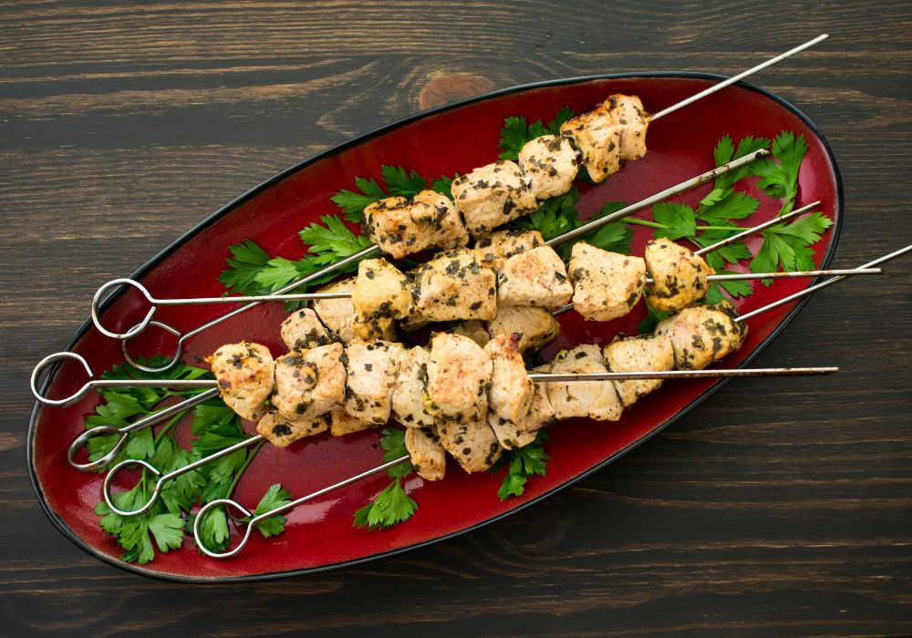
[[[562, 350], [554, 357], [551, 367], [554, 374], [607, 371], [601, 350], [591, 344]], [[617, 421], [624, 410], [614, 384], [607, 381], [548, 382], [548, 398], [557, 419], [589, 417], [596, 421]]]

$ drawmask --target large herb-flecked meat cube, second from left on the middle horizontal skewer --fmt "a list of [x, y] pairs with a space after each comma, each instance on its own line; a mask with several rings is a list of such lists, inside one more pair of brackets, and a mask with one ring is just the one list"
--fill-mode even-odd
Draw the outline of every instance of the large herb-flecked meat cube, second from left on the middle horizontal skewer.
[[471, 251], [449, 252], [422, 265], [412, 294], [422, 320], [492, 319], [497, 278]]

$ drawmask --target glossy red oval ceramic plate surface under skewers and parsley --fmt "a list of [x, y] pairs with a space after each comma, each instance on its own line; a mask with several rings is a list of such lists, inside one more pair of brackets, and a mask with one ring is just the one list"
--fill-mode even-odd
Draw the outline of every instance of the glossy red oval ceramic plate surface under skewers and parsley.
[[[229, 244], [249, 237], [270, 254], [299, 257], [302, 247], [295, 232], [321, 214], [336, 213], [329, 197], [338, 189], [351, 188], [356, 176], [379, 177], [381, 164], [402, 165], [430, 177], [464, 173], [497, 156], [499, 129], [508, 116], [546, 121], [565, 105], [581, 112], [615, 92], [636, 94], [649, 110], [657, 111], [717, 79], [698, 75], [579, 78], [511, 88], [403, 120], [327, 150], [266, 181], [203, 221], [133, 276], [152, 294], [162, 297], [219, 295], [222, 288], [216, 278], [224, 268]], [[592, 214], [605, 201], [640, 200], [709, 170], [713, 165], [712, 149], [724, 135], [735, 140], [747, 135], [772, 137], [782, 130], [803, 135], [810, 147], [801, 170], [799, 205], [820, 200], [820, 210], [836, 222], [814, 247], [816, 262], [824, 266], [833, 255], [842, 216], [842, 193], [833, 156], [814, 125], [797, 109], [746, 85], [726, 88], [659, 120], [649, 129], [645, 160], [627, 164], [597, 187], [581, 186], [581, 214]], [[706, 186], [692, 191], [681, 201], [695, 204], [709, 189]], [[769, 219], [775, 213], [770, 198], [763, 197], [762, 201], [765, 203], [751, 222]], [[637, 227], [633, 252], [641, 253], [646, 230]], [[756, 241], [751, 247], [757, 250]], [[810, 283], [780, 280], [770, 288], [757, 283], [756, 292], [739, 302], [738, 310], [749, 311]], [[733, 367], [749, 362], [788, 324], [799, 307], [800, 304], [786, 305], [751, 321], [744, 347], [726, 364]], [[106, 314], [109, 322], [119, 317], [126, 326], [138, 321], [143, 312], [140, 301], [128, 294], [109, 304]], [[160, 318], [186, 330], [223, 312], [225, 306], [171, 308], [163, 309]], [[620, 331], [636, 333], [643, 314], [642, 304], [634, 313], [610, 324], [585, 323], [576, 314], [564, 314], [560, 318], [562, 336], [545, 355], [580, 343], [605, 344]], [[190, 363], [197, 355], [209, 355], [219, 345], [241, 338], [268, 345], [275, 355], [280, 355], [283, 346], [278, 327], [283, 317], [280, 304], [257, 307], [193, 339], [183, 358]], [[161, 352], [171, 352], [171, 343], [162, 334], [142, 338], [161, 339], [164, 345], [147, 345], [161, 345]], [[88, 322], [67, 349], [86, 356], [96, 370], [122, 360], [119, 343], [98, 334]], [[50, 396], [66, 396], [83, 382], [84, 376], [67, 365], [49, 378], [47, 390]], [[190, 540], [184, 541], [181, 550], [160, 554], [144, 567], [119, 561], [120, 548], [102, 533], [98, 518], [92, 513], [102, 477], [79, 473], [67, 465], [67, 444], [83, 431], [83, 419], [94, 410], [98, 396], [89, 395], [65, 408], [36, 406], [29, 428], [28, 462], [36, 494], [50, 519], [68, 538], [104, 561], [171, 580], [269, 578], [389, 556], [498, 520], [605, 467], [668, 427], [720, 385], [712, 381], [668, 382], [618, 423], [576, 419], [552, 427], [547, 444], [551, 455], [547, 476], [531, 479], [522, 498], [502, 502], [497, 498], [502, 476], [470, 476], [451, 463], [443, 481], [408, 479], [406, 489], [420, 504], [411, 520], [390, 530], [353, 529], [354, 511], [387, 483], [385, 477], [375, 476], [295, 509], [288, 515], [284, 534], [271, 540], [254, 534], [238, 557], [222, 561], [203, 557], [193, 550]], [[250, 424], [248, 427], [252, 429]], [[253, 506], [275, 482], [281, 482], [297, 497], [372, 468], [381, 460], [378, 437], [377, 431], [338, 438], [326, 433], [288, 449], [266, 446], [244, 475], [235, 498]], [[448, 503], [456, 499], [462, 506], [449, 507]]]

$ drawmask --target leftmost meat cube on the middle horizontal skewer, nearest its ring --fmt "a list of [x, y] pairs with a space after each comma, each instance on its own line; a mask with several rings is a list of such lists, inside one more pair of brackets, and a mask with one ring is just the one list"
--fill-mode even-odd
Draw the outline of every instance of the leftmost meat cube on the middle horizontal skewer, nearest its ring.
[[409, 277], [385, 259], [366, 259], [358, 263], [358, 278], [351, 294], [355, 308], [352, 322], [356, 336], [380, 338], [387, 324], [411, 314]]

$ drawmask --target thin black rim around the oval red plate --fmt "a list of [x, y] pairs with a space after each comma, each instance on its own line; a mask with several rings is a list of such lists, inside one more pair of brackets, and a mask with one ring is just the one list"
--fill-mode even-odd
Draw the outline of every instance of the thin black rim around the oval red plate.
[[[277, 184], [278, 182], [285, 180], [286, 177], [289, 177], [290, 175], [294, 174], [298, 170], [305, 169], [310, 164], [316, 163], [319, 160], [324, 160], [327, 157], [330, 157], [337, 153], [344, 152], [346, 149], [356, 146], [364, 141], [367, 141], [368, 139], [389, 133], [390, 131], [392, 131], [394, 129], [399, 129], [400, 127], [403, 127], [403, 126], [408, 126], [412, 122], [415, 122], [421, 118], [427, 118], [427, 117], [430, 117], [430, 116], [433, 116], [433, 115], [436, 115], [436, 114], [439, 114], [439, 113], [442, 113], [442, 112], [445, 112], [448, 110], [455, 110], [457, 108], [466, 107], [466, 106], [474, 104], [476, 102], [481, 102], [483, 100], [492, 99], [492, 98], [500, 98], [500, 97], [510, 95], [512, 93], [518, 93], [518, 92], [524, 91], [524, 90], [530, 90], [530, 89], [542, 88], [542, 87], [554, 87], [554, 86], [569, 85], [569, 84], [581, 84], [581, 83], [585, 83], [585, 82], [593, 82], [593, 81], [606, 80], [606, 79], [625, 79], [625, 78], [634, 78], [634, 77], [648, 77], [648, 78], [683, 77], [683, 78], [713, 79], [713, 80], [728, 79], [725, 76], [720, 76], [720, 75], [713, 74], [713, 73], [698, 73], [698, 72], [692, 72], [692, 71], [655, 71], [655, 72], [643, 72], [643, 73], [616, 73], [616, 74], [601, 74], [601, 75], [594, 75], [594, 76], [577, 76], [577, 77], [568, 77], [568, 78], [562, 78], [562, 79], [545, 80], [543, 82], [533, 82], [533, 83], [529, 83], [529, 84], [517, 85], [514, 87], [502, 88], [502, 89], [499, 89], [496, 91], [491, 91], [489, 93], [484, 93], [479, 96], [474, 96], [472, 98], [466, 98], [466, 99], [460, 100], [458, 102], [452, 102], [451, 104], [447, 104], [447, 105], [444, 105], [444, 106], [441, 106], [438, 108], [432, 108], [427, 111], [421, 111], [414, 115], [408, 116], [406, 118], [401, 118], [399, 120], [396, 120], [394, 122], [381, 126], [378, 129], [373, 129], [366, 133], [362, 133], [361, 135], [358, 135], [355, 138], [348, 139], [347, 141], [342, 142], [341, 144], [337, 144], [334, 147], [320, 151], [319, 153], [316, 153], [316, 155], [313, 155], [313, 156], [307, 158], [306, 160], [297, 162], [296, 164], [290, 166], [289, 168], [282, 170], [279, 173], [276, 173], [273, 177], [271, 177], [267, 180], [264, 180], [260, 184], [257, 184], [256, 186], [254, 186], [252, 189], [247, 190], [243, 195], [240, 195], [239, 197], [233, 199], [232, 201], [229, 201], [222, 208], [213, 212], [211, 215], [207, 216], [205, 219], [203, 219], [199, 223], [195, 224], [189, 231], [184, 232], [180, 237], [178, 237], [176, 240], [174, 240], [168, 246], [166, 246], [164, 249], [162, 249], [161, 252], [159, 252], [158, 254], [153, 256], [150, 259], [150, 261], [148, 261], [148, 262], [144, 263], [142, 266], [140, 266], [140, 268], [138, 268], [136, 270], [136, 272], [134, 272], [130, 275], [130, 278], [139, 279], [144, 274], [148, 273], [156, 265], [158, 265], [160, 262], [162, 262], [164, 259], [166, 259], [169, 255], [171, 255], [171, 252], [174, 252], [175, 250], [177, 250], [184, 242], [187, 242], [188, 240], [190, 240], [198, 232], [201, 232], [203, 229], [207, 228], [214, 221], [221, 219], [224, 215], [233, 211], [237, 206], [240, 206], [245, 201], [248, 201], [248, 200], [254, 198], [255, 196], [259, 195], [260, 193], [264, 192], [265, 190], [268, 190], [269, 188], [275, 186], [275, 184]], [[787, 100], [785, 100], [783, 98], [780, 98], [776, 94], [774, 94], [770, 91], [767, 91], [766, 89], [764, 89], [762, 87], [757, 87], [757, 86], [751, 84], [750, 82], [741, 81], [741, 82], [737, 82], [733, 86], [747, 88], [749, 90], [755, 91], [755, 92], [761, 94], [762, 96], [764, 96], [765, 98], [772, 99], [774, 102], [776, 102], [783, 108], [788, 109], [797, 118], [801, 119], [804, 122], [804, 124], [807, 125], [808, 129], [811, 129], [811, 131], [814, 133], [814, 136], [817, 139], [819, 139], [821, 144], [823, 145], [824, 151], [826, 152], [826, 155], [827, 155], [827, 159], [830, 161], [830, 164], [833, 166], [834, 178], [835, 178], [835, 182], [836, 182], [836, 201], [835, 201], [836, 206], [835, 206], [835, 208], [836, 208], [836, 212], [837, 212], [836, 220], [835, 220], [834, 226], [832, 227], [832, 235], [831, 235], [832, 239], [831, 239], [830, 245], [827, 247], [827, 250], [824, 253], [824, 258], [823, 258], [823, 260], [821, 262], [821, 266], [820, 266], [821, 269], [827, 268], [829, 266], [830, 262], [833, 261], [833, 257], [834, 257], [835, 250], [836, 250], [836, 245], [839, 242], [839, 236], [840, 236], [840, 233], [842, 232], [843, 215], [845, 212], [844, 211], [845, 205], [844, 205], [844, 193], [843, 193], [843, 180], [842, 180], [842, 176], [839, 172], [839, 166], [836, 163], [836, 159], [833, 154], [833, 149], [831, 148], [829, 141], [827, 141], [827, 139], [824, 137], [824, 134], [821, 132], [821, 130], [817, 128], [816, 124], [814, 124], [814, 121], [811, 118], [809, 118], [807, 115], [805, 115], [803, 113], [803, 111], [801, 111], [799, 108], [795, 107], [791, 102], [788, 102]], [[822, 277], [817, 277], [816, 279], [814, 279], [814, 282], [809, 284], [809, 287], [810, 287], [810, 285], [814, 285], [814, 283], [817, 283], [817, 282], [821, 281], [822, 279], [823, 279]], [[101, 310], [108, 308], [110, 304], [113, 304], [115, 301], [117, 301], [117, 299], [119, 298], [119, 296], [121, 294], [122, 293], [116, 293], [114, 295], [111, 295], [107, 300], [105, 300], [105, 302], [103, 304], [101, 304], [101, 306], [100, 306]], [[772, 333], [769, 336], [767, 336], [760, 344], [758, 344], [753, 349], [751, 354], [748, 355], [747, 358], [745, 358], [744, 361], [741, 362], [741, 365], [739, 365], [738, 367], [744, 367], [746, 365], [749, 365], [751, 363], [751, 361], [753, 361], [753, 359], [755, 359], [758, 355], [760, 355], [762, 353], [762, 351], [765, 350], [766, 347], [768, 345], [770, 345], [772, 343], [772, 341], [777, 336], [779, 336], [779, 334], [782, 333], [782, 330], [784, 330], [788, 324], [792, 323], [795, 316], [797, 316], [797, 314], [799, 312], [801, 312], [804, 305], [807, 304], [808, 301], [810, 301], [812, 296], [814, 296], [814, 293], [811, 293], [807, 296], [802, 297], [798, 301], [798, 303], [795, 304], [795, 307], [792, 309], [792, 311], [789, 314], [785, 315], [785, 317], [782, 319], [782, 322], [780, 322], [780, 324], [776, 326], [776, 328], [772, 331]], [[69, 341], [67, 342], [67, 345], [64, 346], [64, 350], [67, 350], [67, 351], [71, 350], [73, 348], [73, 346], [76, 345], [78, 340], [82, 337], [82, 335], [86, 334], [86, 332], [91, 328], [91, 326], [92, 326], [91, 317], [88, 317], [86, 319], [86, 321], [83, 322], [83, 324], [78, 328], [77, 332], [75, 334], [73, 334], [73, 336], [69, 339]], [[58, 367], [59, 367], [59, 365], [54, 365], [49, 370], [47, 375], [45, 376], [45, 379], [42, 382], [41, 388], [40, 388], [40, 391], [42, 393], [47, 390], [48, 386], [50, 386], [51, 380], [57, 374]], [[672, 424], [674, 424], [675, 422], [677, 422], [681, 417], [684, 417], [685, 415], [687, 415], [695, 407], [700, 406], [700, 404], [703, 403], [703, 401], [705, 401], [710, 396], [712, 396], [716, 392], [718, 392], [730, 380], [731, 379], [721, 379], [719, 382], [713, 384], [703, 394], [701, 394], [700, 396], [695, 398], [687, 406], [684, 406], [683, 408], [681, 408], [677, 413], [674, 414], [674, 416], [669, 417], [665, 421], [665, 423], [662, 423], [660, 426], [650, 430], [648, 432], [648, 434], [644, 435], [643, 437], [638, 438], [636, 441], [634, 441], [633, 443], [628, 445], [626, 448], [622, 448], [622, 449], [618, 450], [615, 454], [606, 458], [605, 460], [603, 460], [601, 463], [597, 464], [596, 466], [587, 469], [585, 472], [583, 472], [582, 474], [580, 474], [579, 476], [577, 476], [575, 478], [571, 478], [570, 480], [565, 481], [564, 483], [556, 486], [554, 489], [551, 489], [547, 492], [544, 492], [543, 494], [540, 494], [539, 496], [535, 497], [534, 499], [530, 499], [520, 505], [517, 505], [513, 509], [503, 512], [503, 514], [499, 514], [499, 515], [494, 516], [487, 520], [482, 520], [482, 522], [477, 523], [476, 525], [472, 525], [472, 527], [465, 528], [464, 530], [454, 531], [454, 532], [451, 532], [450, 534], [446, 534], [446, 535], [443, 535], [443, 536], [440, 536], [440, 537], [437, 537], [434, 539], [426, 540], [424, 542], [415, 543], [415, 544], [409, 545], [407, 547], [402, 547], [402, 548], [399, 548], [396, 550], [391, 550], [391, 551], [385, 551], [385, 552], [378, 553], [378, 554], [372, 554], [370, 556], [365, 556], [365, 557], [362, 557], [359, 559], [354, 559], [352, 561], [337, 562], [337, 563], [333, 563], [330, 565], [320, 565], [319, 567], [306, 568], [306, 569], [302, 569], [302, 570], [269, 571], [269, 572], [264, 572], [264, 573], [259, 573], [259, 574], [249, 574], [249, 575], [245, 575], [245, 576], [229, 576], [229, 577], [182, 576], [182, 575], [176, 575], [176, 574], [163, 573], [161, 571], [154, 571], [154, 570], [150, 570], [145, 567], [141, 567], [140, 565], [136, 565], [136, 564], [128, 563], [128, 562], [124, 562], [124, 561], [119, 561], [118, 559], [112, 558], [112, 557], [108, 556], [107, 554], [102, 554], [102, 553], [96, 551], [95, 548], [88, 545], [88, 543], [86, 543], [84, 540], [80, 539], [75, 532], [70, 530], [67, 527], [66, 523], [63, 522], [63, 520], [60, 520], [60, 518], [57, 516], [57, 513], [54, 512], [50, 508], [50, 506], [47, 504], [47, 500], [44, 497], [44, 493], [42, 492], [42, 490], [38, 484], [38, 479], [37, 479], [36, 471], [35, 471], [35, 465], [32, 462], [33, 452], [34, 452], [33, 447], [35, 444], [35, 427], [36, 427], [37, 417], [41, 410], [41, 404], [39, 404], [37, 401], [35, 402], [34, 406], [32, 406], [32, 412], [31, 412], [31, 414], [29, 416], [29, 420], [28, 420], [28, 430], [27, 430], [27, 434], [26, 434], [26, 465], [28, 468], [28, 478], [32, 484], [32, 489], [35, 491], [36, 499], [38, 499], [38, 502], [41, 505], [41, 509], [44, 510], [45, 514], [47, 515], [47, 518], [51, 521], [51, 523], [53, 523], [53, 525], [57, 528], [57, 530], [60, 531], [60, 533], [62, 533], [65, 537], [67, 537], [67, 539], [71, 540], [74, 544], [76, 544], [76, 546], [79, 549], [86, 551], [89, 555], [91, 555], [101, 561], [107, 562], [110, 565], [118, 567], [121, 570], [130, 571], [130, 572], [137, 573], [142, 576], [147, 576], [150, 578], [160, 579], [162, 581], [189, 582], [189, 583], [267, 581], [267, 580], [273, 580], [273, 579], [279, 579], [279, 578], [289, 578], [289, 577], [293, 577], [293, 576], [301, 576], [304, 574], [319, 573], [321, 571], [337, 570], [339, 568], [360, 565], [360, 564], [364, 564], [364, 563], [367, 563], [370, 561], [378, 561], [380, 559], [389, 558], [391, 556], [396, 556], [397, 554], [403, 553], [405, 551], [412, 551], [412, 550], [420, 549], [422, 547], [428, 547], [428, 546], [438, 543], [442, 540], [454, 539], [458, 536], [461, 536], [462, 534], [467, 534], [471, 531], [479, 530], [482, 527], [484, 527], [486, 525], [490, 525], [491, 523], [496, 522], [498, 520], [503, 520], [504, 518], [506, 518], [508, 516], [512, 516], [513, 514], [515, 514], [517, 512], [523, 511], [523, 509], [526, 509], [544, 499], [547, 499], [548, 497], [553, 496], [554, 494], [556, 494], [557, 492], [559, 492], [563, 489], [567, 489], [570, 486], [575, 485], [577, 482], [591, 476], [592, 474], [596, 473], [597, 471], [606, 468], [608, 465], [615, 462], [618, 458], [625, 456], [631, 450], [638, 448], [643, 443], [646, 443], [650, 438], [655, 437], [660, 432], [663, 432], [667, 427], [669, 427]]]

